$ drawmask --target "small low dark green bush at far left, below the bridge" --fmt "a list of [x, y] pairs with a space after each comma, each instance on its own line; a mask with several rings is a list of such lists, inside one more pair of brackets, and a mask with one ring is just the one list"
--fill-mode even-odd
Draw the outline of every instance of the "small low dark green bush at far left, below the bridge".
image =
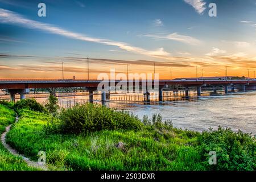
[[33, 111], [39, 111], [41, 113], [45, 111], [44, 106], [36, 102], [34, 99], [19, 100], [14, 104], [14, 109], [16, 111], [20, 109], [30, 109]]

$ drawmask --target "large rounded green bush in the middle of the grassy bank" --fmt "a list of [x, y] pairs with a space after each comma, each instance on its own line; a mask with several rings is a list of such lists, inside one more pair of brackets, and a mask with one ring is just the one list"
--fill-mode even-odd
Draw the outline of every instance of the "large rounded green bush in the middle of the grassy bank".
[[80, 134], [100, 130], [138, 130], [143, 126], [137, 117], [128, 112], [90, 103], [62, 109], [58, 118], [48, 123], [47, 131]]

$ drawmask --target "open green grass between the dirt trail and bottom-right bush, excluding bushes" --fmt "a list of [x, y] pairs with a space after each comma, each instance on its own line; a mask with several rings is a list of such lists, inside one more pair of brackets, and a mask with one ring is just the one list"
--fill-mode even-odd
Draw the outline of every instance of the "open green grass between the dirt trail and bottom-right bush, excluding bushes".
[[[185, 131], [97, 131], [89, 135], [44, 134], [49, 116], [22, 111], [7, 142], [37, 159], [46, 151], [47, 162], [75, 170], [204, 170], [197, 135]], [[171, 136], [171, 137], [167, 137]], [[118, 142], [125, 143], [120, 149]]]

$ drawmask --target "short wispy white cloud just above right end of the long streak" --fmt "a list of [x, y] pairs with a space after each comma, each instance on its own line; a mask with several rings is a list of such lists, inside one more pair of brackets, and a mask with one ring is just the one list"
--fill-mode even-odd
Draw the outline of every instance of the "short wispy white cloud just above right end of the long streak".
[[142, 36], [146, 36], [146, 37], [153, 38], [153, 39], [176, 40], [178, 42], [182, 42], [182, 43], [185, 43], [185, 44], [191, 44], [193, 46], [201, 44], [200, 40], [198, 40], [196, 38], [193, 38], [192, 36], [180, 35], [176, 32], [173, 33], [173, 34], [167, 34], [167, 35], [146, 34], [146, 35], [142, 35]]

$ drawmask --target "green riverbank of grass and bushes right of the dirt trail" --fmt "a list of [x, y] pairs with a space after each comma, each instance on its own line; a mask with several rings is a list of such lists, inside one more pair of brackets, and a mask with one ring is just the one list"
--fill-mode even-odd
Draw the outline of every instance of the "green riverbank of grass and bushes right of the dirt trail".
[[[7, 134], [7, 143], [35, 161], [45, 151], [47, 164], [56, 167], [52, 169], [255, 170], [255, 138], [242, 132], [181, 130], [160, 122], [157, 115], [141, 122], [102, 106], [63, 109], [54, 117], [42, 107], [35, 111], [32, 105], [19, 106], [20, 119]], [[76, 130], [65, 126], [69, 119], [75, 124], [67, 126]], [[210, 151], [216, 152], [216, 165], [208, 162]]]

